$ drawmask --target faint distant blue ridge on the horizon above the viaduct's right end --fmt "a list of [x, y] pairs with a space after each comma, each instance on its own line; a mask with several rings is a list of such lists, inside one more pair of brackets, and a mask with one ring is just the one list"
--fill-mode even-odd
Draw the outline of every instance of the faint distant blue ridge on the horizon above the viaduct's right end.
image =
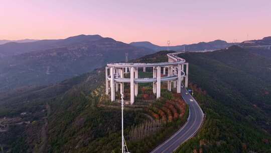
[[196, 44], [188, 44], [188, 45], [177, 45], [177, 46], [158, 46], [155, 44], [152, 44], [151, 42], [148, 41], [142, 41], [142, 42], [131, 42], [130, 43], [133, 46], [137, 47], [145, 47], [145, 48], [150, 48], [156, 51], [160, 50], [175, 50], [175, 51], [183, 51], [184, 47], [186, 51], [196, 51], [196, 50], [215, 50], [215, 49], [223, 49], [227, 48], [233, 44], [238, 44], [238, 43], [227, 43], [226, 41], [223, 40], [215, 40], [215, 41], [210, 41], [210, 42], [199, 42]]

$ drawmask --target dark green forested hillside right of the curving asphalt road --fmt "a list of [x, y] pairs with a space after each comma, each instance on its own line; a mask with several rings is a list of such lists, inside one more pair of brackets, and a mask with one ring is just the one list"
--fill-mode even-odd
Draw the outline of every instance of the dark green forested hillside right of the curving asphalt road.
[[271, 61], [236, 46], [179, 56], [206, 121], [177, 152], [270, 152]]

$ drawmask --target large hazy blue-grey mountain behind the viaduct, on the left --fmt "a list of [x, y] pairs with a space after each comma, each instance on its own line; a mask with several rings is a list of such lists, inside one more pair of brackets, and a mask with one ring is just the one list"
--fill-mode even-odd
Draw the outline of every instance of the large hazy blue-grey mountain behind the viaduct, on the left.
[[99, 35], [7, 43], [0, 50], [5, 47], [15, 55], [0, 59], [0, 90], [57, 83], [107, 62], [123, 61], [125, 53], [133, 59], [155, 52]]

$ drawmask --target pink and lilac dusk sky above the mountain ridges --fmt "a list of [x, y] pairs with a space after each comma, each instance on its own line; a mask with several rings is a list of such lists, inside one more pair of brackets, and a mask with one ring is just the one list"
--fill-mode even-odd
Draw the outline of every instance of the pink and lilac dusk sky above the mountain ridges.
[[0, 39], [99, 34], [158, 45], [271, 36], [270, 0], [0, 0]]

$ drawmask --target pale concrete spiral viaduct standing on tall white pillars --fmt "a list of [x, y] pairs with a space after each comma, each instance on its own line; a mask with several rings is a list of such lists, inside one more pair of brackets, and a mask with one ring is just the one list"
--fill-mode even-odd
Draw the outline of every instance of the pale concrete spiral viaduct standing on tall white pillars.
[[[171, 83], [174, 81], [174, 88], [177, 89], [177, 93], [181, 93], [181, 82], [185, 78], [185, 86], [188, 83], [188, 63], [185, 59], [179, 58], [172, 54], [169, 56], [168, 62], [158, 62], [158, 63], [108, 63], [105, 67], [105, 93], [109, 95], [109, 83], [110, 81], [110, 92], [111, 101], [115, 100], [115, 91], [118, 91], [120, 85], [120, 92], [124, 91], [124, 84], [130, 84], [130, 104], [134, 103], [134, 96], [138, 95], [139, 83], [153, 83], [153, 93], [156, 94], [156, 98], [161, 97], [161, 82], [167, 81], [168, 90], [171, 91]], [[186, 65], [186, 72], [184, 72], [184, 66]], [[125, 78], [125, 73], [130, 72], [130, 78]], [[153, 68], [152, 78], [139, 78], [139, 68]], [[163, 74], [161, 75], [161, 68], [163, 68]], [[108, 69], [110, 69], [108, 75]], [[166, 69], [168, 71], [168, 76], [165, 77]]]

